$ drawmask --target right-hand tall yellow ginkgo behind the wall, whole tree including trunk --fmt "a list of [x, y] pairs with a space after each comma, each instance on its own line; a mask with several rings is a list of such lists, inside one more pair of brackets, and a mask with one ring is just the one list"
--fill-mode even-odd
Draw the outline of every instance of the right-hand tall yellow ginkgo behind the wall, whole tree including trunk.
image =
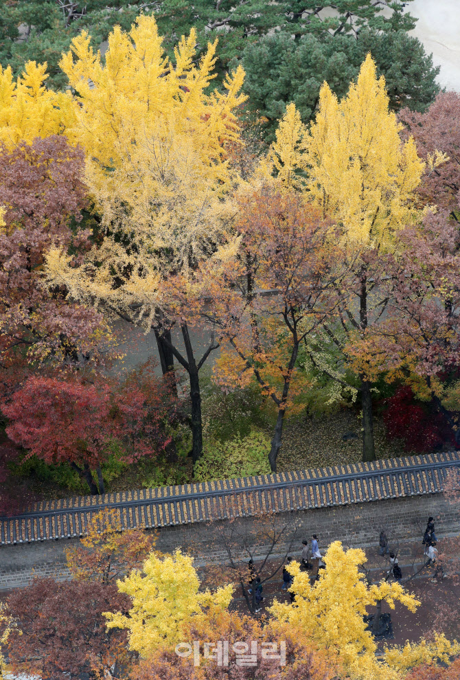
[[334, 291], [341, 302], [307, 354], [314, 367], [360, 394], [364, 460], [375, 458], [371, 390], [379, 358], [367, 352], [367, 338], [389, 302], [385, 258], [398, 231], [419, 217], [414, 192], [424, 161], [412, 137], [401, 140], [401, 128], [369, 54], [341, 101], [323, 84], [310, 129], [288, 106], [262, 167], [275, 183], [302, 191], [338, 227], [341, 264], [348, 264]]

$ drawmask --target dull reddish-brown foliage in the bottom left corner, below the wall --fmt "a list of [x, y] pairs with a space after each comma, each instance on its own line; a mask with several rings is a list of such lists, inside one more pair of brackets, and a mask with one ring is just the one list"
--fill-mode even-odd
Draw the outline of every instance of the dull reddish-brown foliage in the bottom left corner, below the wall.
[[17, 626], [8, 639], [10, 663], [14, 669], [39, 672], [53, 680], [119, 665], [126, 657], [126, 633], [107, 631], [102, 612], [129, 607], [130, 599], [115, 584], [35, 580], [13, 591], [7, 600], [5, 613]]

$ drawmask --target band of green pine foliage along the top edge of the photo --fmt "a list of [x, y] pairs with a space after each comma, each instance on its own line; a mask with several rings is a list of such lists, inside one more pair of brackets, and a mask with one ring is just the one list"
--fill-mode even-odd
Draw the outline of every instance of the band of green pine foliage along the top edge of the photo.
[[[219, 39], [218, 80], [240, 59], [246, 45], [270, 30], [285, 31], [299, 39], [305, 34], [319, 38], [334, 32], [339, 36], [360, 34], [369, 27], [374, 34], [409, 31], [415, 20], [404, 5], [410, 0], [393, 0], [393, 14], [385, 18], [375, 0], [14, 0], [0, 3], [0, 61], [10, 63], [15, 75], [27, 60], [47, 61], [51, 87], [64, 87], [67, 79], [58, 68], [60, 54], [67, 52], [71, 39], [87, 30], [96, 49], [114, 25], [128, 30], [142, 12], [154, 13], [165, 49], [172, 54], [177, 39], [192, 26], [197, 30], [198, 56], [208, 41]], [[67, 8], [62, 8], [67, 5]], [[318, 11], [334, 8], [335, 16], [321, 20]], [[327, 14], [327, 12], [326, 12]], [[411, 56], [408, 53], [407, 58]], [[343, 82], [348, 77], [343, 74]], [[213, 85], [214, 87], [214, 85]]]

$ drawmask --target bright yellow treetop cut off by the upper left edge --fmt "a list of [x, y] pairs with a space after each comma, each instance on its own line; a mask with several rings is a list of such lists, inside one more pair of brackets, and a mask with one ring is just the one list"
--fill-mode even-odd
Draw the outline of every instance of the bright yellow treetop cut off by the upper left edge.
[[14, 82], [11, 67], [0, 66], [0, 141], [9, 149], [22, 140], [69, 134], [75, 104], [69, 92], [46, 89], [46, 69], [29, 61]]

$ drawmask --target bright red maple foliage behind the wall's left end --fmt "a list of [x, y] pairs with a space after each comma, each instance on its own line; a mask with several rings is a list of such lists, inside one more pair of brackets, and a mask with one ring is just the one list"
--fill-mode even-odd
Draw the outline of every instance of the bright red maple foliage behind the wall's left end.
[[65, 378], [33, 376], [2, 405], [10, 420], [6, 433], [29, 455], [69, 462], [97, 493], [91, 470], [108, 458], [111, 440], [122, 442], [125, 462], [157, 455], [170, 442], [165, 422], [174, 400], [150, 364], [122, 385], [72, 373]]

